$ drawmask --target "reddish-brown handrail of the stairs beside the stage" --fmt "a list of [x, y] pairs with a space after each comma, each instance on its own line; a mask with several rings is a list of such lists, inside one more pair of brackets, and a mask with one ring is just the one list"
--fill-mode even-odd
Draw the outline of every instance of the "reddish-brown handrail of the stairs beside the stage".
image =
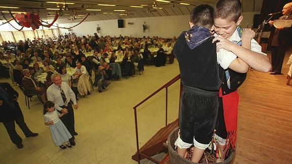
[[[135, 113], [135, 128], [136, 128], [136, 144], [137, 144], [137, 153], [138, 153], [138, 163], [140, 163], [140, 155], [145, 156], [147, 159], [157, 163], [158, 161], [151, 158], [150, 156], [148, 156], [147, 154], [144, 154], [142, 152], [140, 152], [139, 150], [139, 138], [138, 138], [138, 123], [137, 123], [137, 108], [142, 105], [143, 103], [145, 103], [148, 99], [150, 99], [152, 96], [154, 96], [155, 94], [157, 94], [158, 92], [160, 92], [163, 89], [166, 89], [166, 115], [165, 115], [165, 125], [167, 126], [167, 115], [168, 115], [168, 87], [171, 86], [172, 84], [174, 84], [176, 81], [178, 81], [180, 79], [180, 74], [177, 75], [175, 78], [173, 78], [172, 80], [170, 80], [168, 83], [166, 83], [165, 85], [161, 86], [159, 89], [157, 89], [156, 91], [154, 91], [152, 94], [150, 94], [148, 97], [146, 97], [146, 99], [144, 99], [143, 101], [141, 101], [139, 104], [137, 104], [135, 107], [133, 107], [134, 109], [134, 113]], [[182, 92], [182, 84], [180, 83], [180, 91], [179, 91], [179, 100], [181, 97], [181, 92]]]

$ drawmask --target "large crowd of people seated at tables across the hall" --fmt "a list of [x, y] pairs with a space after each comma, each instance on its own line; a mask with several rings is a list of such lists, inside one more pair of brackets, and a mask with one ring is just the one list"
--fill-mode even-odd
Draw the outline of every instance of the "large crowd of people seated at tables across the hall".
[[[57, 72], [62, 81], [71, 86], [77, 98], [78, 92], [81, 95], [90, 94], [90, 83], [102, 92], [110, 80], [120, 80], [122, 75], [134, 75], [135, 68], [142, 73], [145, 63], [160, 67], [165, 65], [167, 57], [172, 63], [175, 41], [175, 37], [168, 40], [121, 35], [118, 38], [99, 38], [96, 34], [76, 37], [74, 33], [59, 35], [55, 40], [42, 37], [18, 43], [5, 41], [0, 47], [0, 73], [2, 77], [11, 77], [12, 82], [23, 85], [28, 93], [39, 93], [45, 102], [45, 90], [52, 84], [50, 76]], [[68, 70], [71, 74], [67, 73]], [[47, 74], [43, 84], [38, 78], [44, 73]], [[91, 80], [92, 73], [94, 82]], [[78, 87], [81, 79], [80, 88], [83, 90]]]

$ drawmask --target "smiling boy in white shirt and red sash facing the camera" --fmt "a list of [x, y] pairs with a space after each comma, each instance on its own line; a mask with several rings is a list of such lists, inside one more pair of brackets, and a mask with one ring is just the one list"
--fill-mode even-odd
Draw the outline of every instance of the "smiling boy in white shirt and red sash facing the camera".
[[[244, 82], [246, 72], [251, 66], [254, 70], [268, 72], [271, 63], [261, 46], [253, 39], [251, 29], [242, 31], [239, 25], [242, 4], [239, 0], [219, 0], [214, 10], [213, 42], [217, 43], [217, 62], [225, 71], [224, 81], [219, 90], [219, 110], [216, 125], [216, 138], [221, 156], [225, 158], [229, 148], [235, 147], [237, 129], [237, 111], [239, 94], [237, 88]], [[228, 142], [226, 142], [228, 141]]]

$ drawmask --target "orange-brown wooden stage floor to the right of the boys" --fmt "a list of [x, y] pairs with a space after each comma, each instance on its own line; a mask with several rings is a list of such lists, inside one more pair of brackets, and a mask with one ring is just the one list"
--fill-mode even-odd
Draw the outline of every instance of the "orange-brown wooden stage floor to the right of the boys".
[[286, 85], [288, 54], [283, 63], [284, 75], [250, 70], [239, 89], [234, 163], [292, 163], [292, 86]]

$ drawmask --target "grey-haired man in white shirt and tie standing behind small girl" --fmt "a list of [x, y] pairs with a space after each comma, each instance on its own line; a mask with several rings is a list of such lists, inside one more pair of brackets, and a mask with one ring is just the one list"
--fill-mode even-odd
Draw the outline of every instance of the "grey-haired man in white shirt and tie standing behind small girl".
[[76, 102], [75, 94], [70, 88], [70, 86], [62, 82], [60, 74], [53, 74], [51, 76], [51, 80], [54, 84], [52, 84], [47, 89], [47, 97], [48, 101], [51, 101], [55, 104], [55, 109], [59, 113], [64, 113], [60, 119], [64, 123], [64, 125], [67, 127], [68, 131], [72, 135], [72, 138], [69, 139], [70, 144], [72, 146], [75, 146], [75, 137], [78, 134], [75, 132], [75, 121], [74, 121], [74, 111], [72, 108], [72, 102], [74, 104], [74, 108], [77, 109], [78, 105]]

